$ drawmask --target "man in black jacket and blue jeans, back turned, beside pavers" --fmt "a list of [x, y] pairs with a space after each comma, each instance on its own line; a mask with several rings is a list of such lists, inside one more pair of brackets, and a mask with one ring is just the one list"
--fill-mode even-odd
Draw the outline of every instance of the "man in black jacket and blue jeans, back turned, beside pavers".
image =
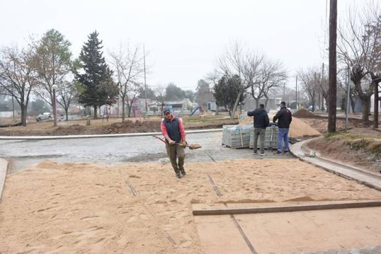
[[289, 130], [290, 130], [290, 123], [292, 121], [292, 113], [291, 111], [285, 106], [285, 102], [280, 103], [280, 110], [278, 113], [274, 116], [273, 122], [278, 120], [278, 154], [282, 154], [282, 141], [284, 139], [284, 153], [289, 153], [290, 147], [289, 147]]

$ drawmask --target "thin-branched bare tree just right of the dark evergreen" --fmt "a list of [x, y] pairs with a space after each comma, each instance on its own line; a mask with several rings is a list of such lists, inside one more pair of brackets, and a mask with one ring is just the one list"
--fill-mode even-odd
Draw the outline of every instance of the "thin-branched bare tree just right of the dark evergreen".
[[122, 44], [120, 44], [118, 52], [109, 52], [109, 54], [111, 56], [110, 63], [119, 86], [119, 97], [123, 105], [122, 121], [124, 121], [125, 104], [128, 106], [128, 117], [130, 117], [133, 100], [139, 93], [139, 79], [144, 74], [144, 56], [141, 55], [138, 44], [132, 49], [130, 49], [129, 45], [123, 48]]

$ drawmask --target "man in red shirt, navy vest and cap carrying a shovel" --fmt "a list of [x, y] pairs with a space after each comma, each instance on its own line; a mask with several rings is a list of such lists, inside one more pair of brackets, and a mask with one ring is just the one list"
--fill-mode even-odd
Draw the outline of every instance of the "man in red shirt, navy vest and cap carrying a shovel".
[[[177, 178], [181, 178], [181, 174], [185, 175], [184, 160], [186, 147], [184, 125], [181, 119], [175, 117], [171, 110], [163, 111], [164, 119], [160, 124], [160, 129], [166, 141], [167, 154], [171, 160], [173, 169]], [[178, 163], [176, 158], [178, 158]], [[181, 174], [180, 174], [181, 173]]]

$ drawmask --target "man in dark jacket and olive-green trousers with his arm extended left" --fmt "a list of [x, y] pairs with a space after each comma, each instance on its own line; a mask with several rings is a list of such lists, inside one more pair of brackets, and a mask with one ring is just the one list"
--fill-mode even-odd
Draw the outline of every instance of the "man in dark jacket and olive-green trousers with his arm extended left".
[[254, 143], [253, 143], [253, 153], [257, 155], [258, 149], [258, 136], [260, 136], [260, 147], [261, 155], [266, 155], [265, 153], [265, 132], [266, 127], [269, 125], [269, 116], [265, 110], [265, 105], [259, 105], [259, 109], [247, 112], [248, 116], [254, 117]]

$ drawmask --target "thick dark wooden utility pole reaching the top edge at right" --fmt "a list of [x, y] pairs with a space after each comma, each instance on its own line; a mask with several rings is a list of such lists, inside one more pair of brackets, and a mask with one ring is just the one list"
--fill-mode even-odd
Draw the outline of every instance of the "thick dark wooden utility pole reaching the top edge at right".
[[336, 40], [337, 40], [337, 0], [330, 0], [329, 9], [329, 93], [328, 93], [328, 133], [336, 132]]

